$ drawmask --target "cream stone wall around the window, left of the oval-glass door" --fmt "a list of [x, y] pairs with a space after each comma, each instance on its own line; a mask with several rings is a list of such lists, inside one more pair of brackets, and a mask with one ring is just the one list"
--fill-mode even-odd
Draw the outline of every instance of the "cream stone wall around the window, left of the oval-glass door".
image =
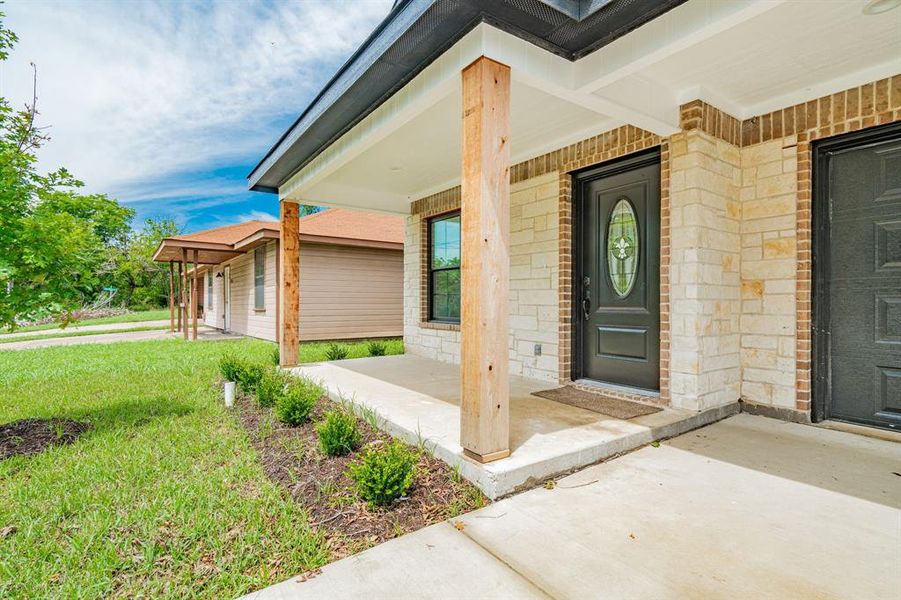
[[[510, 190], [510, 374], [557, 381], [558, 177], [514, 183]], [[407, 217], [404, 255], [404, 346], [445, 362], [460, 362], [458, 325], [428, 322], [428, 220], [458, 210], [459, 188], [419, 201]], [[535, 355], [541, 344], [541, 355]]]

